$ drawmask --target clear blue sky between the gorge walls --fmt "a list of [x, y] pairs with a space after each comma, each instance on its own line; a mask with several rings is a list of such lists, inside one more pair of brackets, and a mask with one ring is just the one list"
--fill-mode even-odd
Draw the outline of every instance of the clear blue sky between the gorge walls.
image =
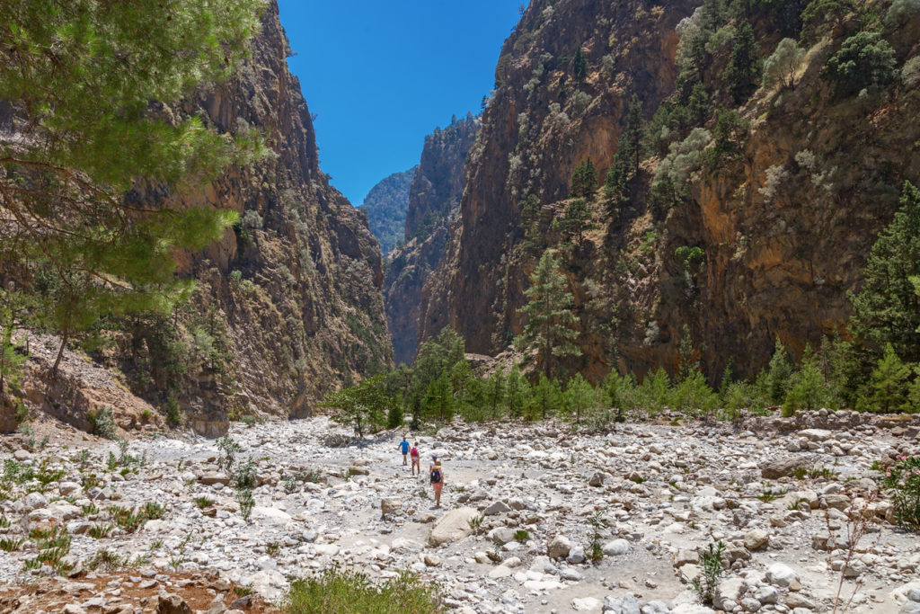
[[521, 4], [279, 0], [320, 167], [351, 203], [418, 164], [425, 135], [451, 115], [479, 112]]

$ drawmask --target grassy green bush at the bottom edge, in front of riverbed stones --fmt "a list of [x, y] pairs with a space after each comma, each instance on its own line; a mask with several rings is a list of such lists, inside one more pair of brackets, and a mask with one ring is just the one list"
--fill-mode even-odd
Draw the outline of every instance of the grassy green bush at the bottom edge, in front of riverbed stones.
[[322, 575], [294, 580], [282, 602], [286, 614], [437, 614], [445, 611], [437, 591], [404, 572], [374, 586], [363, 573], [326, 570]]

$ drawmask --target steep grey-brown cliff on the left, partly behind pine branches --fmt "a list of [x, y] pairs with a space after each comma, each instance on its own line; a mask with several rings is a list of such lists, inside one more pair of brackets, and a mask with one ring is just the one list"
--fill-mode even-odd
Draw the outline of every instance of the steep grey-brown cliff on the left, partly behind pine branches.
[[365, 215], [318, 168], [290, 54], [271, 2], [239, 74], [166, 110], [203, 110], [225, 133], [257, 126], [275, 154], [185, 197], [240, 214], [222, 241], [181, 261], [199, 289], [178, 315], [178, 337], [201, 361], [181, 375], [150, 364], [155, 334], [143, 322], [124, 361], [144, 396], [178, 402], [202, 432], [219, 433], [228, 413], [305, 415], [329, 390], [392, 362], [380, 249]]

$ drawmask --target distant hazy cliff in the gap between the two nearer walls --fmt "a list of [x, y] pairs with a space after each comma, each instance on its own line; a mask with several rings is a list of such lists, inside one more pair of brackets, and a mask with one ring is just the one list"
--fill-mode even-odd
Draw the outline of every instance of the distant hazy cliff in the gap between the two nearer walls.
[[406, 243], [385, 262], [386, 319], [397, 363], [410, 364], [415, 357], [422, 287], [443, 259], [463, 194], [466, 154], [479, 125], [468, 115], [425, 138], [409, 190]]

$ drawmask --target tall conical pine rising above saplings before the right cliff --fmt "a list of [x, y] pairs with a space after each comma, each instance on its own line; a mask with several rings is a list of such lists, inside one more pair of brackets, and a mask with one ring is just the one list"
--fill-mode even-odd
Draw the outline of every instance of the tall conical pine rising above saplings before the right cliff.
[[559, 272], [558, 262], [547, 249], [530, 277], [531, 286], [524, 291], [528, 303], [521, 308], [527, 324], [515, 340], [515, 345], [528, 353], [535, 352], [544, 375], [554, 377], [558, 359], [580, 356], [575, 344], [579, 331], [572, 312], [574, 297], [566, 288], [566, 279]]

